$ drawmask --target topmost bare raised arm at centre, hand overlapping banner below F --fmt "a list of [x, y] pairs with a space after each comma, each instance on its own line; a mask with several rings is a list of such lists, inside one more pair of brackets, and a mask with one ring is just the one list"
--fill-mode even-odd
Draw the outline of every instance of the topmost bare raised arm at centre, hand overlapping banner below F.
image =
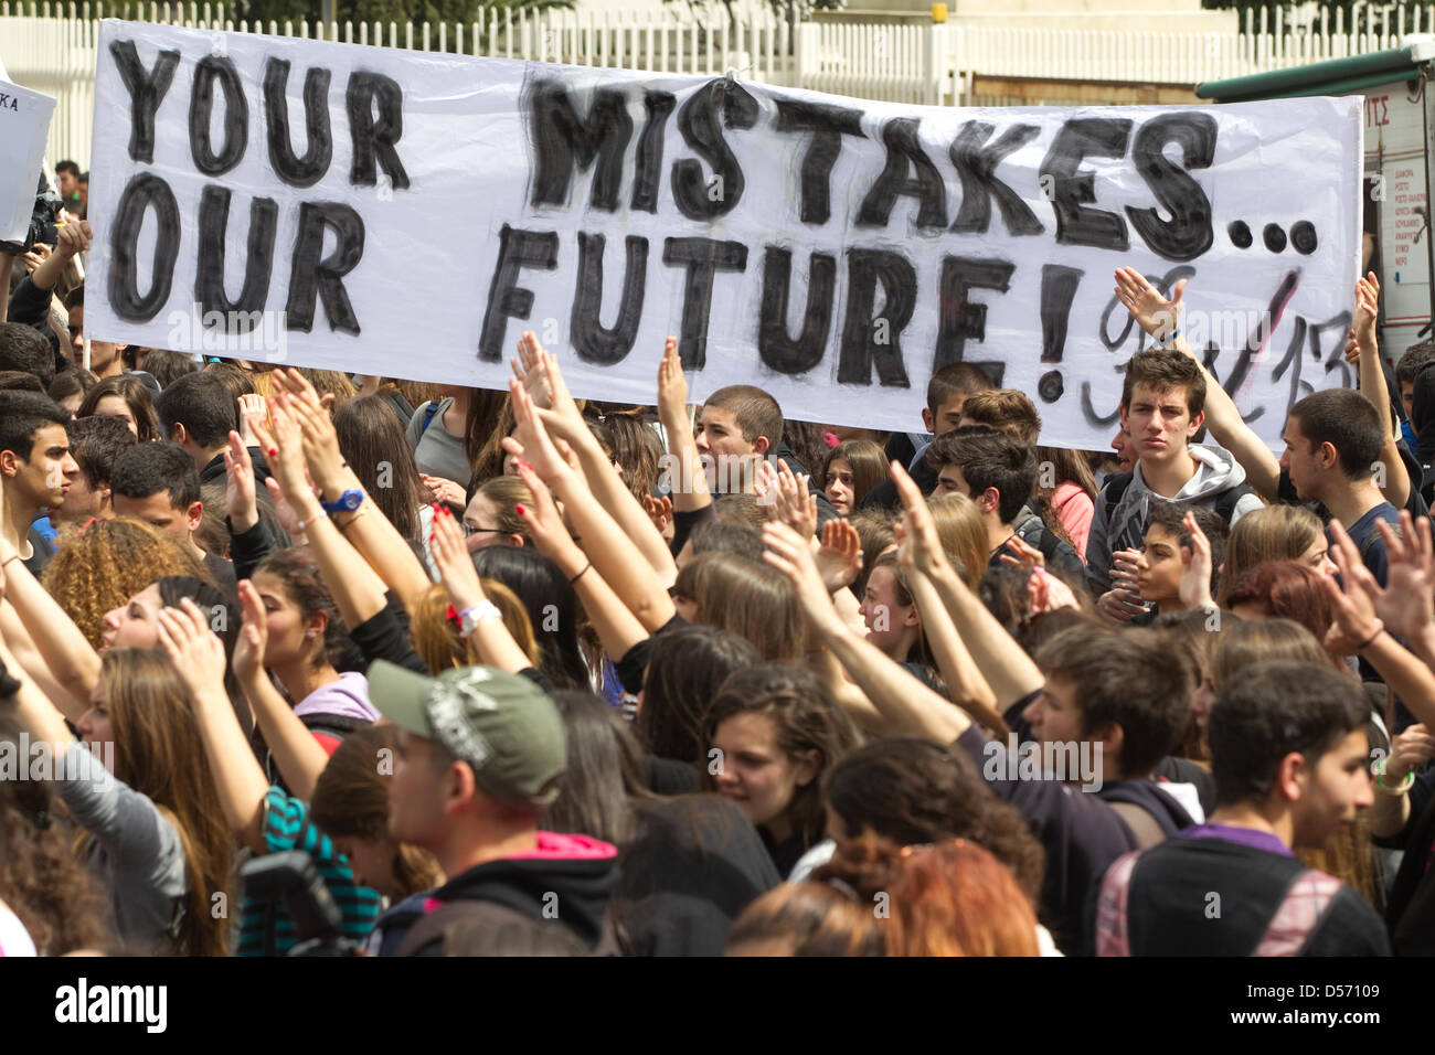
[[[558, 360], [540, 347], [538, 337], [531, 330], [524, 333], [522, 340], [518, 342], [518, 355], [522, 362], [512, 360], [515, 380], [528, 398], [531, 413], [542, 422], [551, 436], [565, 441], [574, 449], [593, 497], [608, 517], [623, 528], [623, 534], [627, 535], [643, 561], [657, 574], [666, 590], [677, 578], [673, 554], [667, 551], [667, 543], [653, 525], [643, 504], [633, 497], [621, 477], [613, 471], [613, 462], [608, 461], [587, 422], [583, 421], [578, 405], [568, 395]], [[515, 400], [515, 418], [517, 413]]]

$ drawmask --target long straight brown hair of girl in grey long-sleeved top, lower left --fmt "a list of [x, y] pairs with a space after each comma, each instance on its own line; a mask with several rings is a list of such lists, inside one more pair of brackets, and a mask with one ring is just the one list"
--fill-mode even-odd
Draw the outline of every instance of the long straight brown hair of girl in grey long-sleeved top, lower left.
[[115, 728], [115, 778], [149, 798], [175, 825], [184, 845], [185, 894], [177, 952], [224, 956], [227, 914], [215, 919], [214, 894], [230, 900], [234, 833], [189, 703], [189, 689], [169, 660], [146, 649], [110, 649], [100, 667]]

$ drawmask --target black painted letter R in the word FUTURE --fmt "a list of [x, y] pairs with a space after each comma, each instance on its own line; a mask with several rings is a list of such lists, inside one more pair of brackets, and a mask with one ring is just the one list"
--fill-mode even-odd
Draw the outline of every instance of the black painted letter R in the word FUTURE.
[[[883, 287], [883, 310], [877, 311], [877, 286]], [[917, 307], [917, 271], [900, 253], [848, 250], [847, 313], [842, 320], [842, 350], [837, 380], [842, 385], [871, 385], [877, 379], [890, 388], [911, 388], [903, 362], [901, 332]]]

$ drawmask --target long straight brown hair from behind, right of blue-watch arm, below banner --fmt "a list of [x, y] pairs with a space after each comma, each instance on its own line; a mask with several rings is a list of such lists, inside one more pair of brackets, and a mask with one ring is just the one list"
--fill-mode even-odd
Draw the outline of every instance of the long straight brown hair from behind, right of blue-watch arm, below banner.
[[359, 396], [334, 411], [339, 449], [364, 492], [409, 543], [422, 543], [419, 507], [429, 495], [403, 425], [383, 396]]

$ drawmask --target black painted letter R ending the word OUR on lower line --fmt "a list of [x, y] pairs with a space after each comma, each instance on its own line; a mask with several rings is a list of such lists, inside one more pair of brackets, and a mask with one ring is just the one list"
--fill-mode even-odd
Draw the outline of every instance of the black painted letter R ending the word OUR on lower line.
[[[334, 233], [333, 251], [324, 251], [324, 231]], [[314, 299], [323, 297], [329, 329], [359, 334], [359, 316], [349, 303], [343, 277], [359, 266], [363, 257], [363, 220], [349, 205], [337, 201], [311, 202], [298, 207], [298, 234], [294, 238], [294, 258], [288, 271], [288, 303], [284, 326], [309, 333], [314, 329]]]

